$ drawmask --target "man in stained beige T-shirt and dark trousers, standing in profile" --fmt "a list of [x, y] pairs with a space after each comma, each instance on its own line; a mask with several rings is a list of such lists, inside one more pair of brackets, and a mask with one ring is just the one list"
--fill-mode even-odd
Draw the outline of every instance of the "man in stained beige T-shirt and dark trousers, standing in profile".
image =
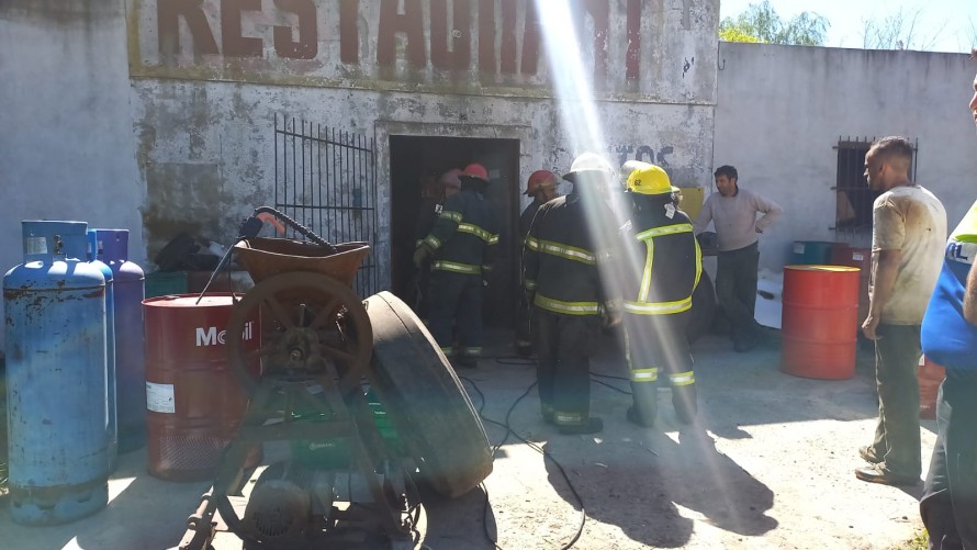
[[920, 325], [943, 266], [946, 211], [909, 179], [912, 143], [884, 137], [865, 156], [868, 187], [883, 193], [872, 207], [872, 277], [862, 333], [875, 340], [878, 424], [858, 449], [871, 465], [855, 476], [911, 485], [922, 470], [919, 435]]

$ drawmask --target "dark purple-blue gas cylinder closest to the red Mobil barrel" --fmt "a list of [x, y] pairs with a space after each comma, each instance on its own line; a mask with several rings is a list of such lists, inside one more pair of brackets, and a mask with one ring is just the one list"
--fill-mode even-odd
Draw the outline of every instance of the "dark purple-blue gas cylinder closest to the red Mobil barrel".
[[115, 390], [119, 452], [146, 445], [146, 348], [143, 343], [143, 269], [128, 261], [128, 229], [92, 229], [98, 258], [113, 277], [115, 310]]

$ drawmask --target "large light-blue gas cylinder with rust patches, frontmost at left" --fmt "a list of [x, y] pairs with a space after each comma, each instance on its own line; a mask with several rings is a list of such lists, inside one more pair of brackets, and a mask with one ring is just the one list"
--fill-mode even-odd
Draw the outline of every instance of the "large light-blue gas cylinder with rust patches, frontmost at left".
[[109, 502], [105, 278], [67, 252], [86, 223], [22, 227], [24, 263], [3, 276], [10, 517], [63, 524]]

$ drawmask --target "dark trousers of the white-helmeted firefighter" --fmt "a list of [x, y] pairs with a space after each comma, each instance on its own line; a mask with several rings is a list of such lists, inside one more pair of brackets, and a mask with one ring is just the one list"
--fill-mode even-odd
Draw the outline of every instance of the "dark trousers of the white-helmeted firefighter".
[[596, 315], [561, 315], [532, 308], [536, 381], [542, 415], [558, 426], [587, 422], [591, 414], [591, 355], [600, 335]]

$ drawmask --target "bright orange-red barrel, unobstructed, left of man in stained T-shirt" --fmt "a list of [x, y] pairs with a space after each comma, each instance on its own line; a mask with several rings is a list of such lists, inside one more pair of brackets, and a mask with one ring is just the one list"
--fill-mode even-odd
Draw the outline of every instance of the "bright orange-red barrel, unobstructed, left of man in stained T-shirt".
[[785, 266], [781, 370], [821, 380], [855, 375], [858, 269]]

